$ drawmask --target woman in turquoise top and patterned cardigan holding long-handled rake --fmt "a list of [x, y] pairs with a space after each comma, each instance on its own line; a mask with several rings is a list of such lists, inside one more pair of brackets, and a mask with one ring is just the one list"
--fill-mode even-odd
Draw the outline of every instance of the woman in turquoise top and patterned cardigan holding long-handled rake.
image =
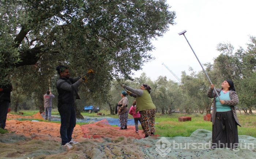
[[234, 83], [226, 80], [221, 84], [222, 89], [214, 91], [214, 85], [207, 92], [209, 98], [214, 98], [212, 110], [212, 146], [211, 150], [216, 148], [230, 148], [234, 150], [238, 147], [239, 124], [235, 106], [238, 104], [238, 96], [235, 92]]

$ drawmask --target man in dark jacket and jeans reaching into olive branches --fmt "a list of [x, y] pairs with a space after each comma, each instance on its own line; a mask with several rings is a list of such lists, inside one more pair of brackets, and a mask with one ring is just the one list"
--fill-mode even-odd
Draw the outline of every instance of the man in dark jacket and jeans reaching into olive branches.
[[71, 78], [68, 67], [60, 65], [56, 67], [60, 78], [56, 82], [58, 95], [58, 111], [60, 113], [60, 136], [62, 147], [73, 148], [71, 144], [78, 142], [72, 140], [72, 133], [76, 126], [75, 101], [80, 99], [78, 86], [86, 80], [85, 77]]

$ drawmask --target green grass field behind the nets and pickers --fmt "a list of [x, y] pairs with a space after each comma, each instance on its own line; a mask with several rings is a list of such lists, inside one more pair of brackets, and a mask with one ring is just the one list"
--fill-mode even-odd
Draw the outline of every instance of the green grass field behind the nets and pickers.
[[[22, 110], [23, 116], [31, 116], [38, 113], [38, 110], [28, 111]], [[104, 113], [105, 116], [118, 118], [118, 115], [110, 115], [109, 111], [101, 110], [100, 113]], [[53, 109], [52, 115], [59, 115], [57, 110]], [[97, 117], [97, 113], [85, 113], [82, 112], [83, 116]], [[205, 114], [204, 114], [205, 115]], [[165, 137], [174, 137], [174, 136], [190, 136], [192, 132], [196, 129], [206, 129], [212, 131], [212, 124], [210, 121], [204, 121], [203, 116], [200, 114], [182, 114], [182, 113], [173, 113], [172, 115], [160, 115], [156, 114], [155, 117], [155, 131], [156, 134]], [[178, 117], [188, 116], [191, 117], [191, 121], [179, 122]], [[242, 127], [238, 126], [238, 135], [248, 135], [256, 137], [255, 125], [256, 125], [256, 115], [244, 115], [243, 113], [237, 113], [238, 119]], [[132, 116], [128, 116], [129, 119], [132, 119]], [[139, 129], [142, 129], [139, 127]]]

